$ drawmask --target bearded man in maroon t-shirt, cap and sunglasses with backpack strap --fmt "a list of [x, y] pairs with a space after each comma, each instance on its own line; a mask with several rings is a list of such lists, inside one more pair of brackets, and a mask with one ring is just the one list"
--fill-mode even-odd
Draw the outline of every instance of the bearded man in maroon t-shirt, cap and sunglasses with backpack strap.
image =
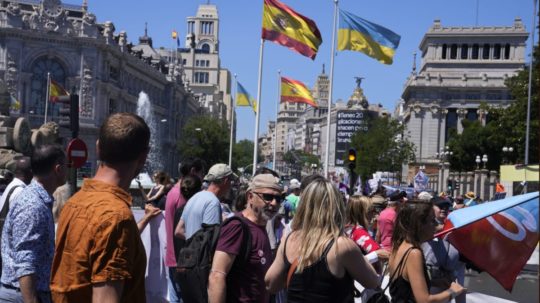
[[251, 232], [249, 258], [241, 260], [242, 223], [232, 220], [222, 226], [208, 281], [210, 303], [268, 302], [264, 275], [273, 260], [266, 222], [277, 214], [281, 203], [279, 179], [271, 174], [255, 176], [246, 192], [246, 200], [246, 208], [238, 216]]

